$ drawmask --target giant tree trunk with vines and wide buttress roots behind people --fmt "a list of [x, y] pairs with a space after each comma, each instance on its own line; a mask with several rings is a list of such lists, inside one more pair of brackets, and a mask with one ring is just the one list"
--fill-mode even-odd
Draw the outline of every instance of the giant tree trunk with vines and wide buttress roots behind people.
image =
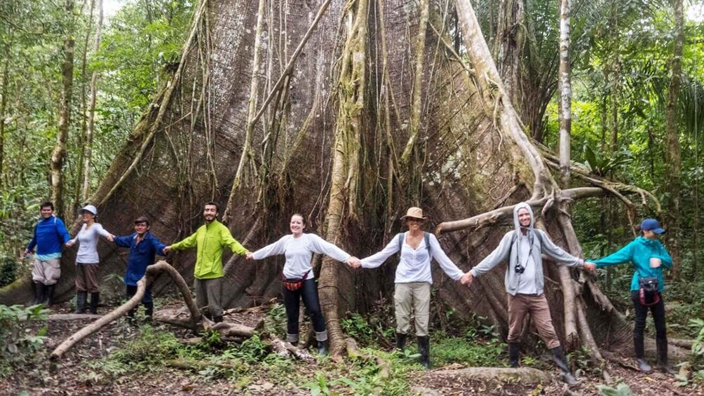
[[[460, 51], [451, 45], [458, 37]], [[286, 234], [301, 212], [308, 231], [359, 257], [382, 248], [401, 229], [398, 217], [420, 205], [435, 225], [447, 221], [438, 226], [441, 244], [468, 270], [510, 228], [511, 205], [521, 200], [580, 255], [572, 200], [610, 193], [632, 216], [625, 193], [648, 197], [579, 169], [579, 186], [562, 190], [551, 174], [556, 162], [525, 134], [469, 1], [201, 0], [180, 65], [93, 202], [113, 234], [147, 215], [165, 242], [201, 224], [204, 202], [227, 203], [225, 222], [252, 250]], [[108, 243], [100, 250], [102, 275], [124, 270], [126, 252]], [[64, 298], [73, 293], [74, 255], [63, 259]], [[192, 276], [194, 251], [169, 261]], [[231, 257], [226, 305], [278, 295], [282, 264]], [[389, 300], [395, 263], [362, 272], [315, 257], [315, 266], [341, 352], [341, 317]], [[471, 288], [439, 269], [434, 279], [439, 306], [482, 314], [505, 335], [502, 270]], [[565, 345], [585, 346], [594, 359], [631, 347], [630, 324], [593, 280], [555, 266], [546, 279]], [[6, 288], [0, 301], [29, 300], [28, 283]]]

